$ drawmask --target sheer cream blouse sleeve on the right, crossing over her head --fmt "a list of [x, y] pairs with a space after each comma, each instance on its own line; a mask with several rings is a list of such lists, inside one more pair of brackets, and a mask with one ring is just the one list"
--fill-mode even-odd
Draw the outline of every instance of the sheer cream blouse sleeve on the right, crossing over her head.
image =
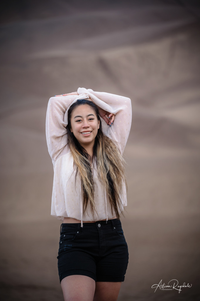
[[111, 93], [95, 92], [92, 89], [85, 88], [78, 88], [77, 92], [78, 94], [85, 93], [89, 95], [98, 107], [115, 114], [111, 126], [108, 126], [101, 119], [102, 127], [105, 135], [117, 142], [121, 154], [123, 154], [131, 129], [132, 107], [130, 98]]

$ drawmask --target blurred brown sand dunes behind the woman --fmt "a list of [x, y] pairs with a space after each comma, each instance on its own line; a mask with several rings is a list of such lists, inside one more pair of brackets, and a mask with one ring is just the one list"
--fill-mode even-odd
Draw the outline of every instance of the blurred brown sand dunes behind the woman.
[[[198, 300], [198, 1], [10, 1], [1, 39], [2, 300], [63, 300], [45, 118], [55, 94], [130, 97], [119, 301]], [[152, 289], [176, 279], [177, 290]], [[155, 291], [155, 292], [154, 292]]]

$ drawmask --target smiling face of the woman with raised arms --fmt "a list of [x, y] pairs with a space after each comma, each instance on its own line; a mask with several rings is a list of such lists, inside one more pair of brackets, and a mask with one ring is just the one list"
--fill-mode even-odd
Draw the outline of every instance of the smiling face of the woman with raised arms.
[[70, 131], [86, 150], [94, 146], [99, 125], [100, 121], [90, 105], [82, 104], [74, 108]]

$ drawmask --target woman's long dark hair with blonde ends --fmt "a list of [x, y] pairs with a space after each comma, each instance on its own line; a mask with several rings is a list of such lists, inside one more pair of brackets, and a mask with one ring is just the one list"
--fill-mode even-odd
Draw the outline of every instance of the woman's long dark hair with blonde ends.
[[[100, 121], [100, 126], [93, 146], [92, 158], [70, 131], [71, 114], [77, 106], [83, 104], [91, 106], [97, 116], [97, 119]], [[108, 193], [112, 214], [114, 210], [116, 217], [119, 219], [120, 214], [123, 214], [120, 194], [123, 193], [123, 182], [126, 184], [125, 160], [123, 159], [115, 142], [103, 133], [101, 119], [98, 114], [98, 107], [92, 101], [87, 99], [80, 99], [72, 104], [68, 110], [67, 132], [68, 146], [76, 166], [76, 176], [79, 172], [83, 188], [83, 214], [87, 212], [86, 208], [88, 202], [91, 206], [92, 215], [94, 215], [94, 211], [96, 212], [94, 201], [94, 182], [91, 169], [91, 161], [94, 159], [96, 161], [98, 177]]]

